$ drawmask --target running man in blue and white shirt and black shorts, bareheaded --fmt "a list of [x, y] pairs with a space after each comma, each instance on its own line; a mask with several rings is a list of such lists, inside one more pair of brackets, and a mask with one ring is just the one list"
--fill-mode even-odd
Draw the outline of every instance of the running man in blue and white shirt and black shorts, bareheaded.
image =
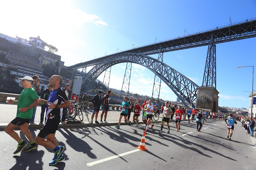
[[[70, 106], [70, 101], [65, 92], [60, 88], [61, 82], [62, 77], [53, 75], [51, 79], [49, 79], [49, 87], [52, 87], [53, 90], [48, 100], [38, 99], [38, 103], [47, 104], [47, 119], [45, 126], [40, 130], [35, 140], [37, 144], [53, 149], [54, 157], [53, 161], [49, 163], [50, 166], [64, 160], [64, 155], [62, 155], [64, 146], [59, 146], [58, 141], [55, 139], [55, 133], [61, 120], [62, 108]], [[47, 138], [45, 139], [45, 137]]]

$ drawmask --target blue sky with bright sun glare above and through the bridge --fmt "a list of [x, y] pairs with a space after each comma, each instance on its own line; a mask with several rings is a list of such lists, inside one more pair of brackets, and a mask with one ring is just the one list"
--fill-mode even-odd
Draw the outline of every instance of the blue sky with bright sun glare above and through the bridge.
[[[207, 3], [206, 3], [207, 2]], [[36, 37], [53, 44], [65, 65], [102, 57], [184, 35], [256, 18], [256, 1], [203, 0], [9, 0], [1, 2], [0, 33], [11, 37]], [[219, 105], [249, 107], [256, 38], [216, 44], [216, 89]], [[201, 86], [207, 46], [164, 53], [164, 62]], [[118, 51], [120, 51], [118, 50]], [[152, 55], [157, 57], [157, 55]], [[109, 87], [121, 89], [126, 64], [111, 68]], [[89, 69], [89, 68], [88, 68]], [[98, 79], [103, 80], [104, 74]], [[254, 78], [254, 89], [256, 90]], [[133, 64], [130, 92], [151, 96], [154, 74]], [[177, 96], [161, 85], [160, 98]]]

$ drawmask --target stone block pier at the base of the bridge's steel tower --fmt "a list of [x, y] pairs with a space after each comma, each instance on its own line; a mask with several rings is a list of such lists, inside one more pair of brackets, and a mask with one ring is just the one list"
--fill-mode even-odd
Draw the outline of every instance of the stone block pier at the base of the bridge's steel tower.
[[218, 111], [218, 94], [214, 87], [198, 87], [196, 108]]

